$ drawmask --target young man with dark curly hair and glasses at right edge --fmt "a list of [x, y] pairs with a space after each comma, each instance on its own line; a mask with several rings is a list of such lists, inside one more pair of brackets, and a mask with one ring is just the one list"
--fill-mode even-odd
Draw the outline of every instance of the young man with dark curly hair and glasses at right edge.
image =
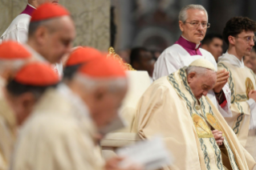
[[[256, 159], [256, 145], [253, 138], [256, 140], [256, 130], [249, 129], [256, 128], [256, 91], [254, 91], [256, 79], [254, 72], [244, 66], [242, 58], [250, 55], [254, 47], [255, 31], [256, 22], [250, 18], [234, 17], [226, 22], [223, 38], [229, 48], [217, 63], [218, 70], [230, 72], [232, 117], [226, 117], [226, 122], [234, 130], [243, 147], [249, 147], [247, 145], [249, 143], [248, 151], [254, 155], [254, 159]], [[246, 142], [248, 137], [250, 141]]]

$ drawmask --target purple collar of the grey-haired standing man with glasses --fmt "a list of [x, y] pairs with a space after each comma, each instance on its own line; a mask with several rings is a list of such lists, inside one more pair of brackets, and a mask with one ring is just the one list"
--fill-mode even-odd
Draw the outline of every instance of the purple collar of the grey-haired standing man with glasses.
[[181, 47], [185, 49], [189, 53], [189, 55], [201, 55], [200, 46], [201, 43], [196, 44], [193, 42], [189, 42], [185, 39], [182, 35], [181, 37], [175, 42], [175, 44], [179, 44]]

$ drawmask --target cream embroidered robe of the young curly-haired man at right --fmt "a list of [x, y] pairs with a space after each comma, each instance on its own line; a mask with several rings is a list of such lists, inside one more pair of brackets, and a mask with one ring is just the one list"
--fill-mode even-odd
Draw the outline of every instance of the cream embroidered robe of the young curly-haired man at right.
[[254, 72], [247, 67], [235, 67], [226, 62], [217, 64], [218, 70], [226, 69], [230, 72], [228, 83], [231, 91], [231, 111], [232, 117], [226, 117], [226, 122], [238, 136], [238, 140], [243, 147], [246, 146], [250, 127], [250, 106], [246, 102], [250, 90], [256, 87]]

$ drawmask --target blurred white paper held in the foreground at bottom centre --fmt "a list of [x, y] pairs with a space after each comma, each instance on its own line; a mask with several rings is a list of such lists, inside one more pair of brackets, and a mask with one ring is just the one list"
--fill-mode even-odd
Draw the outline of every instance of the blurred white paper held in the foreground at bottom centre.
[[173, 163], [173, 157], [165, 148], [161, 137], [144, 140], [128, 148], [120, 148], [116, 153], [125, 158], [120, 163], [121, 168], [127, 168], [131, 164], [140, 164], [144, 165], [146, 170], [153, 170]]

